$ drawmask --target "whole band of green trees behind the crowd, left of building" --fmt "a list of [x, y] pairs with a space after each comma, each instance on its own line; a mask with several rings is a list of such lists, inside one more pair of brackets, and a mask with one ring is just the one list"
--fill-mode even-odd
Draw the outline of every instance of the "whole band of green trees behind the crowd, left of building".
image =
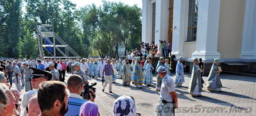
[[[24, 4], [25, 11], [21, 10]], [[141, 41], [141, 9], [103, 1], [77, 9], [68, 0], [0, 1], [0, 57], [37, 58], [37, 24], [53, 24], [55, 33], [82, 57], [118, 58]]]

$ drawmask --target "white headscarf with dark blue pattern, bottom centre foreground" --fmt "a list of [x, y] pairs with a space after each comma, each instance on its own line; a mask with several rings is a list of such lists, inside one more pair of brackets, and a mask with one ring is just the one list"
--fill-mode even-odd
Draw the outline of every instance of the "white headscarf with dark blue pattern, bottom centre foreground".
[[113, 107], [114, 116], [135, 116], [136, 115], [136, 106], [135, 101], [132, 97], [128, 95], [122, 95], [115, 99]]

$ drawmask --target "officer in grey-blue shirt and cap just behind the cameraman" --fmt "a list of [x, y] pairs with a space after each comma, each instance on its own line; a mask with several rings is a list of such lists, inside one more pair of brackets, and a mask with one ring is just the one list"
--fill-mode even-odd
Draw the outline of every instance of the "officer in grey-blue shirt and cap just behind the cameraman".
[[74, 67], [74, 74], [78, 74], [79, 76], [81, 76], [81, 78], [83, 79], [83, 82], [88, 85], [88, 78], [87, 75], [85, 73], [85, 71], [83, 69], [80, 69], [80, 62], [75, 62], [74, 64], [72, 64], [72, 66]]

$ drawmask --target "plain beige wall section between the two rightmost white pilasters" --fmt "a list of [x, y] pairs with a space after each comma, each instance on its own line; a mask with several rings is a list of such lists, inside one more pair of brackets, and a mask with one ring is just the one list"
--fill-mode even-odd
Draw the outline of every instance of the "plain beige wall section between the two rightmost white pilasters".
[[221, 1], [219, 14], [218, 52], [222, 59], [237, 59], [241, 55], [244, 1]]

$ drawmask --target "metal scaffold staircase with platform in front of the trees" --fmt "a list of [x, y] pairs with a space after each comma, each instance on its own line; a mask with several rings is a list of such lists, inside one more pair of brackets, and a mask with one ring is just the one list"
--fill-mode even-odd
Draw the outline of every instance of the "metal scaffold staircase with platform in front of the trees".
[[[45, 38], [50, 38], [49, 44], [46, 45], [44, 42]], [[74, 49], [67, 45], [62, 38], [60, 38], [54, 32], [52, 24], [41, 24], [37, 25], [37, 41], [40, 53], [40, 58], [81, 58]], [[46, 47], [53, 47], [53, 53], [48, 51]], [[62, 51], [60, 47], [64, 47], [65, 51]], [[56, 56], [56, 50], [62, 56]], [[51, 54], [51, 56], [45, 56], [44, 51]], [[71, 54], [69, 54], [71, 53]]]

